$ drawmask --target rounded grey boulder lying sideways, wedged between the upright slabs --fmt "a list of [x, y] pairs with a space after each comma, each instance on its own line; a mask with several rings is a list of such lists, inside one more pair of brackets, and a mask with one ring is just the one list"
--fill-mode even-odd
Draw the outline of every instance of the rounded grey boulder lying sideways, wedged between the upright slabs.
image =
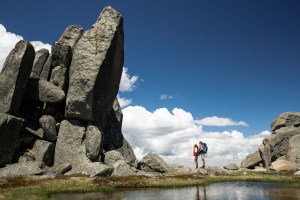
[[46, 103], [61, 102], [66, 97], [62, 89], [51, 82], [39, 79], [30, 79], [26, 96]]

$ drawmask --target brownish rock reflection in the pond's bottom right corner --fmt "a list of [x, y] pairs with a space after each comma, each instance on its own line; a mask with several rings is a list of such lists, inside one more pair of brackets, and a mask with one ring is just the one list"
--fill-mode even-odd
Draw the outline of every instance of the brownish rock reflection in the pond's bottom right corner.
[[266, 193], [272, 200], [300, 199], [300, 190], [295, 188], [278, 188], [267, 190]]

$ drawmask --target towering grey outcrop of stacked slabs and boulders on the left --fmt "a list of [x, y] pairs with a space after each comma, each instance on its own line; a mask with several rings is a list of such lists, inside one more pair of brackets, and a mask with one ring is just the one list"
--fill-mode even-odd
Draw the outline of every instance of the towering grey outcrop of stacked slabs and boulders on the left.
[[0, 74], [0, 176], [137, 172], [116, 98], [123, 63], [123, 17], [111, 7], [89, 30], [67, 27], [50, 53], [18, 42]]

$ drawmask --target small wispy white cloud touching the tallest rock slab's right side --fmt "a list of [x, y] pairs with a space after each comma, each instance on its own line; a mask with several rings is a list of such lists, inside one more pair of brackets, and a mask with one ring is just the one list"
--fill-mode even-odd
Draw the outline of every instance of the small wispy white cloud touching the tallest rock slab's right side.
[[120, 92], [131, 92], [136, 88], [136, 83], [138, 80], [138, 76], [130, 76], [128, 74], [128, 68], [123, 67], [123, 73], [120, 82]]

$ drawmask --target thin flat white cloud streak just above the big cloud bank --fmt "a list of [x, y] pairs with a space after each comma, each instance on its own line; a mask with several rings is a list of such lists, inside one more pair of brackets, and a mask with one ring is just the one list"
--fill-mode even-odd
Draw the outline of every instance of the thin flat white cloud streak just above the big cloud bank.
[[200, 124], [203, 126], [249, 126], [246, 122], [243, 121], [233, 121], [229, 118], [223, 117], [205, 117], [200, 120], [195, 120], [196, 124]]

